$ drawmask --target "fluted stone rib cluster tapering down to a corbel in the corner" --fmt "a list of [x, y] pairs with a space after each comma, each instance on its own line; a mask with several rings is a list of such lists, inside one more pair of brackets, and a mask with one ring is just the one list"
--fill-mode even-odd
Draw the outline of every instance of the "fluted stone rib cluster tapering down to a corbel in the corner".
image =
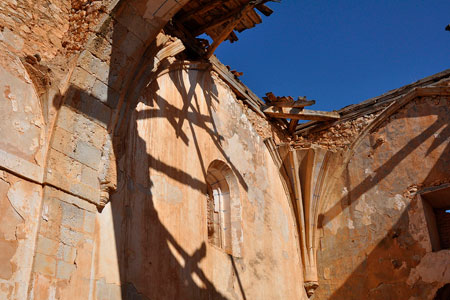
[[330, 171], [337, 166], [333, 153], [326, 149], [292, 150], [288, 145], [278, 148], [282, 165], [281, 177], [290, 191], [303, 265], [304, 286], [309, 297], [319, 286], [317, 248], [319, 245], [319, 214], [324, 207], [325, 191], [333, 182]]

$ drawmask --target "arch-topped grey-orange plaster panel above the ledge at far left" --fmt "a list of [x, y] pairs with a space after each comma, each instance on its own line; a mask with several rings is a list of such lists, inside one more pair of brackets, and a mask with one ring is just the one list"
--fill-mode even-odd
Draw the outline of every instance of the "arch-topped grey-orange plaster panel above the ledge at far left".
[[0, 165], [41, 183], [48, 137], [37, 87], [16, 54], [4, 49], [0, 58]]

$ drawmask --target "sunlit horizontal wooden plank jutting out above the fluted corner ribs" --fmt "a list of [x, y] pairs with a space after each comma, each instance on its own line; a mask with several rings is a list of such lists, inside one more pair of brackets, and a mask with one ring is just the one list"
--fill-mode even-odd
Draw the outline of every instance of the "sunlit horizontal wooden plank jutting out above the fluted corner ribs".
[[288, 108], [269, 106], [263, 112], [273, 118], [295, 119], [295, 120], [335, 120], [340, 116], [337, 112], [317, 111], [302, 108]]

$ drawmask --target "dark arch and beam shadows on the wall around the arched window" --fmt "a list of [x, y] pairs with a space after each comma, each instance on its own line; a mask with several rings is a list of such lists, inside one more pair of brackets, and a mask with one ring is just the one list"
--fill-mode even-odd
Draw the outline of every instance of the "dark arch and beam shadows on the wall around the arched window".
[[[122, 299], [227, 299], [217, 291], [199, 267], [200, 261], [206, 256], [205, 243], [198, 245], [195, 252], [189, 254], [161, 222], [153, 202], [154, 195], [150, 189], [154, 182], [149, 174], [150, 169], [156, 170], [206, 195], [204, 178], [209, 162], [202, 157], [202, 145], [199, 144], [196, 132], [206, 131], [223, 157], [227, 157], [221, 145], [223, 138], [218, 134], [212, 118], [213, 102], [217, 101], [215, 85], [209, 77], [201, 80], [191, 78], [190, 88], [187, 89], [180, 78], [171, 74], [178, 92], [183, 96], [183, 108], [178, 109], [168, 99], [158, 96], [150, 99], [151, 103], [145, 103], [152, 108], [137, 111], [137, 99], [144, 90], [159, 89], [154, 81], [155, 74], [151, 72], [157, 50], [156, 42], [153, 40], [143, 46], [145, 52], [141, 53], [140, 60], [130, 62], [124, 59], [126, 57], [123, 51], [127, 45], [122, 40], [124, 34], [131, 32], [124, 32], [123, 26], [118, 22], [114, 22], [112, 32], [106, 97], [99, 99], [91, 92], [71, 86], [61, 105], [71, 107], [96, 122], [108, 124], [111, 132], [118, 177], [118, 188], [111, 196], [111, 206]], [[204, 74], [208, 76], [209, 73]], [[204, 86], [205, 82], [208, 82], [207, 86]], [[207, 115], [199, 112], [200, 100], [195, 93], [197, 86], [200, 86], [207, 101]], [[54, 105], [58, 104], [55, 102]], [[194, 178], [189, 170], [168, 165], [147, 153], [147, 142], [139, 136], [137, 122], [148, 118], [167, 119], [186, 145], [193, 143], [197, 157], [192, 159], [196, 159], [201, 165], [203, 178]], [[184, 131], [184, 123], [188, 124], [190, 134]], [[192, 141], [189, 136], [192, 136]], [[119, 164], [121, 161], [125, 163]], [[247, 189], [237, 169], [230, 161], [227, 163], [241, 186]], [[139, 178], [139, 182], [133, 181], [136, 178]], [[136, 232], [145, 232], [145, 236]], [[184, 263], [181, 264], [180, 261]], [[240, 297], [246, 299], [233, 257], [230, 257], [230, 265], [239, 283]], [[136, 269], [136, 266], [139, 268]]]

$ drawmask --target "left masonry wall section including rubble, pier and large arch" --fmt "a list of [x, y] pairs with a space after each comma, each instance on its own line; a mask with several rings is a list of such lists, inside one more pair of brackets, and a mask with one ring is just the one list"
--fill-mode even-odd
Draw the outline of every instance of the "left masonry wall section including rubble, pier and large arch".
[[93, 299], [118, 91], [183, 4], [0, 3], [1, 299]]

